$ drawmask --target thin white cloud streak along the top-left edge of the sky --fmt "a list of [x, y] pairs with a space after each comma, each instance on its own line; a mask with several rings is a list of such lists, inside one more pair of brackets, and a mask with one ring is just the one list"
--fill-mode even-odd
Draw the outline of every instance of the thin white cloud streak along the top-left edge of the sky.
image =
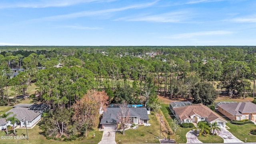
[[47, 7], [65, 7], [72, 6], [81, 3], [89, 2], [110, 2], [114, 0], [40, 0], [31, 1], [25, 0], [16, 3], [2, 3], [0, 2], [0, 8], [47, 8]]

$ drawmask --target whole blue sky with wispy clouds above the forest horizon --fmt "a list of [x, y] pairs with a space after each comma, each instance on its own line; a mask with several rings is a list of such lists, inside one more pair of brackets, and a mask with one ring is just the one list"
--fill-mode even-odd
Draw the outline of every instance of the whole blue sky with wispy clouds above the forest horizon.
[[255, 46], [256, 0], [0, 0], [0, 45]]

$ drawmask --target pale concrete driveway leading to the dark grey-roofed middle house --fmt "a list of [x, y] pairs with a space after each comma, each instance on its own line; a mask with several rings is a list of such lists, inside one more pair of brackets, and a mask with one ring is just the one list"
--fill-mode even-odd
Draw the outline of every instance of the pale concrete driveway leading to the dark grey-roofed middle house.
[[104, 129], [101, 141], [98, 144], [116, 144], [116, 130]]

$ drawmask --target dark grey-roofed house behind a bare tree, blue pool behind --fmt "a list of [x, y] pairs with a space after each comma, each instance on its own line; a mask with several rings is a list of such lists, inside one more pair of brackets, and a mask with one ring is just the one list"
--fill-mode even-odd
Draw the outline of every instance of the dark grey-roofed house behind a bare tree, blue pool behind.
[[[129, 109], [129, 118], [130, 122], [134, 124], [148, 124], [148, 112], [146, 108], [128, 108]], [[121, 108], [106, 108], [106, 111], [103, 112], [102, 119], [100, 120], [101, 128], [117, 128], [119, 123], [119, 114]]]

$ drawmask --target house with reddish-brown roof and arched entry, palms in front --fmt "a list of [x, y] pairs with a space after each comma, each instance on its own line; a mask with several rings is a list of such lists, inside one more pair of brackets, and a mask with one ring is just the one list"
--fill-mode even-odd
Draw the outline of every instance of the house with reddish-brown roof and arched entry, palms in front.
[[226, 120], [213, 112], [210, 108], [203, 104], [193, 104], [183, 107], [173, 108], [174, 116], [180, 122], [199, 122], [206, 121], [208, 123], [217, 122], [219, 126], [226, 126]]

